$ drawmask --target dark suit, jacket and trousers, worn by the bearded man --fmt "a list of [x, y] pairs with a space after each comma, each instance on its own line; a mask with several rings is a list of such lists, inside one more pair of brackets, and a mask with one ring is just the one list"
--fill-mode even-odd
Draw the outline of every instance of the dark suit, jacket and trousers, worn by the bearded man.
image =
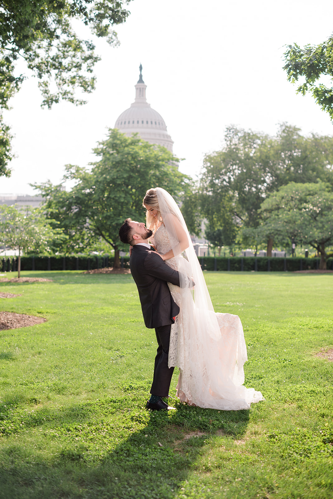
[[167, 397], [173, 367], [167, 367], [171, 324], [179, 313], [167, 282], [179, 286], [179, 274], [155, 251], [135, 245], [130, 258], [133, 279], [138, 287], [146, 327], [155, 328], [158, 350], [155, 358], [151, 393]]

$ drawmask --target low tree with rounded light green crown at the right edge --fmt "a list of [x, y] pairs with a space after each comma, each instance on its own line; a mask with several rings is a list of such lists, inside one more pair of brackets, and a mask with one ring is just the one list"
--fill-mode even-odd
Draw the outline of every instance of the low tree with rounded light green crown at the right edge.
[[[274, 231], [275, 237], [286, 242], [293, 239], [307, 244], [321, 255], [320, 268], [326, 269], [333, 245], [333, 192], [324, 182], [290, 184], [268, 196], [262, 204], [262, 232]], [[332, 253], [333, 254], [333, 253]]]

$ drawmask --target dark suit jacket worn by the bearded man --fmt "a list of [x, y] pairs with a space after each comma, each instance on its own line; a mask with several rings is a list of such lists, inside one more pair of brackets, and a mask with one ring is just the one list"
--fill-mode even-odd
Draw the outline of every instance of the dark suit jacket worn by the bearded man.
[[179, 307], [173, 301], [166, 282], [179, 286], [179, 274], [169, 267], [155, 251], [135, 245], [130, 258], [133, 279], [138, 286], [146, 327], [173, 324]]

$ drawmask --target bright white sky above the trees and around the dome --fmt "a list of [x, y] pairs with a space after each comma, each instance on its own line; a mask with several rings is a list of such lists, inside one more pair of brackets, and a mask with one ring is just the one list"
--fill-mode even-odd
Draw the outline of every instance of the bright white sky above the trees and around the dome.
[[4, 118], [17, 157], [11, 177], [0, 177], [0, 193], [34, 194], [29, 183], [58, 183], [65, 164], [95, 161], [92, 149], [134, 101], [140, 63], [147, 100], [165, 119], [186, 174], [199, 173], [230, 124], [274, 135], [286, 121], [304, 134], [333, 134], [329, 116], [311, 96], [296, 95], [282, 69], [284, 45], [331, 35], [331, 0], [133, 0], [129, 8], [119, 47], [95, 40], [102, 61], [88, 104], [42, 110], [36, 78], [11, 100]]

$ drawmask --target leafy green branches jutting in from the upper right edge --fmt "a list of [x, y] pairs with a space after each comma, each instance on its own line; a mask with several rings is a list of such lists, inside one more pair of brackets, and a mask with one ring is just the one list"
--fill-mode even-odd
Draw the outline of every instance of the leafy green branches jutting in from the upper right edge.
[[288, 45], [284, 53], [288, 81], [304, 81], [296, 92], [305, 95], [310, 92], [323, 111], [329, 113], [333, 121], [333, 87], [320, 82], [322, 76], [333, 77], [333, 36], [319, 45]]

